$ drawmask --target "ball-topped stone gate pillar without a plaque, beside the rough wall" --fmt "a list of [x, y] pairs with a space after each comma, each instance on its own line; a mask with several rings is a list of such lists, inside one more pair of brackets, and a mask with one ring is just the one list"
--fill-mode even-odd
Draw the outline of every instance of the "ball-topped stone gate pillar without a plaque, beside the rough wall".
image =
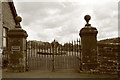
[[91, 17], [84, 17], [87, 24], [80, 30], [82, 49], [82, 70], [91, 71], [97, 68], [97, 29], [89, 24]]

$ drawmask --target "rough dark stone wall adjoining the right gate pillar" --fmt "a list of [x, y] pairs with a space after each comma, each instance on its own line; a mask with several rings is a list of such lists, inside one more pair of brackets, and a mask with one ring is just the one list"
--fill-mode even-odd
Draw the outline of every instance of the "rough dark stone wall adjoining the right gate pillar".
[[120, 45], [117, 44], [98, 44], [98, 62], [101, 73], [117, 73], [119, 47]]

